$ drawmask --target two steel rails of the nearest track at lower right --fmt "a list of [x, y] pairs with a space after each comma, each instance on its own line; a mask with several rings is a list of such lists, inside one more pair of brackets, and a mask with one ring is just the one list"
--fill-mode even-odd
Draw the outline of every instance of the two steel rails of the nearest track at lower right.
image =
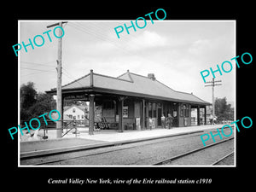
[[[163, 165], [166, 165], [166, 164], [170, 164], [173, 160], [181, 159], [181, 158], [183, 158], [183, 157], [185, 157], [185, 156], [188, 156], [188, 155], [190, 155], [190, 154], [195, 154], [195, 153], [197, 153], [197, 152], [199, 152], [199, 151], [202, 151], [202, 150], [204, 150], [204, 149], [206, 149], [206, 148], [211, 148], [211, 147], [216, 146], [216, 145], [218, 145], [218, 144], [220, 144], [220, 143], [228, 142], [228, 141], [230, 141], [230, 140], [232, 140], [232, 139], [234, 139], [234, 137], [230, 137], [230, 138], [228, 138], [228, 139], [221, 140], [221, 141], [218, 142], [218, 143], [209, 144], [209, 145], [207, 145], [207, 146], [205, 146], [205, 147], [195, 148], [195, 149], [193, 149], [193, 150], [191, 150], [191, 151], [189, 151], [189, 152], [185, 152], [185, 153], [183, 153], [183, 154], [177, 154], [176, 156], [167, 158], [167, 159], [165, 159], [165, 160], [160, 160], [159, 162], [154, 163], [152, 166], [163, 166]], [[230, 156], [230, 155], [233, 154], [233, 153], [234, 153], [234, 152], [225, 155], [223, 158], [221, 158], [221, 159], [219, 159], [219, 160], [216, 160], [214, 163], [212, 163], [212, 166], [217, 165], [218, 162], [224, 160], [225, 158], [227, 158], [228, 156]]]

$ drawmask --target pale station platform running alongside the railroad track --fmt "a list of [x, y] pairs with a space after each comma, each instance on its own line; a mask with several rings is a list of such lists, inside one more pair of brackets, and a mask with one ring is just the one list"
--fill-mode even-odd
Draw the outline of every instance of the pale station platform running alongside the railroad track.
[[94, 131], [89, 135], [86, 130], [79, 130], [79, 134], [69, 133], [65, 137], [47, 140], [20, 141], [20, 158], [32, 155], [58, 154], [68, 151], [91, 148], [110, 147], [125, 143], [136, 143], [156, 138], [175, 137], [180, 135], [203, 132], [221, 128], [223, 125], [200, 125], [189, 127], [174, 127], [172, 129], [153, 129], [144, 131]]

